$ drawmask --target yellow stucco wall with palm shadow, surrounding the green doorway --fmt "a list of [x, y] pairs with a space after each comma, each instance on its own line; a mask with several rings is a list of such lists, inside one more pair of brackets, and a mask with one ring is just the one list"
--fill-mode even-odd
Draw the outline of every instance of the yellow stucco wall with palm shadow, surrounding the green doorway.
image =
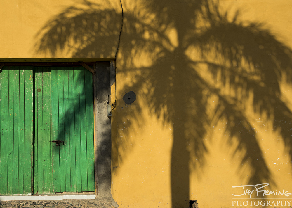
[[[112, 86], [119, 208], [292, 206], [292, 1], [121, 2]], [[115, 57], [117, 0], [0, 8], [0, 61]]]

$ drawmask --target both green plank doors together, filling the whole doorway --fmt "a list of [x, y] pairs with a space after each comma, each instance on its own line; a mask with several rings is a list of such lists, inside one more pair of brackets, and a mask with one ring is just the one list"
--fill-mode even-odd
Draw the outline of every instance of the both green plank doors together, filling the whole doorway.
[[4, 67], [0, 78], [0, 194], [94, 191], [91, 72]]

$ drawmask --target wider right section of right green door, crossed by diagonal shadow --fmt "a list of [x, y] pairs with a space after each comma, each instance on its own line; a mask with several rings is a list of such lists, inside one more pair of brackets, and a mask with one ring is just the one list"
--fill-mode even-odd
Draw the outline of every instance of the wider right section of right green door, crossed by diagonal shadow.
[[94, 191], [93, 83], [84, 67], [51, 67], [54, 192]]

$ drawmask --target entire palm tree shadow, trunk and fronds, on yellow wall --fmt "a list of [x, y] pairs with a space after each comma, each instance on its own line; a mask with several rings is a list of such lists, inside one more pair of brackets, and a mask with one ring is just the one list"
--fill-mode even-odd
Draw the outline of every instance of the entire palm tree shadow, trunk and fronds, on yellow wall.
[[[280, 90], [283, 77], [291, 84], [291, 49], [261, 24], [239, 22], [239, 12], [229, 20], [227, 12], [219, 11], [218, 2], [177, 4], [152, 0], [143, 9], [135, 8], [140, 10], [124, 14], [127, 22], [117, 60], [122, 60], [118, 62], [121, 72], [135, 81], [118, 94], [133, 89], [146, 91], [143, 96], [150, 110], [173, 127], [172, 206], [179, 207], [190, 200], [190, 168], [203, 170], [209, 152], [206, 134], [211, 125], [223, 119], [227, 120], [227, 145], [232, 146], [236, 140], [234, 155], [242, 155], [238, 174], [248, 165], [250, 184], [276, 185], [245, 105], [250, 102], [254, 112], [272, 120], [291, 157], [292, 112], [281, 100]], [[79, 58], [110, 56], [107, 49], [117, 42], [120, 21], [121, 13], [98, 5], [67, 8], [41, 29], [36, 51], [51, 56], [64, 51]], [[176, 32], [168, 36], [169, 31]], [[186, 55], [190, 50], [201, 58]], [[135, 57], [145, 55], [147, 60], [149, 54], [156, 57], [150, 64], [135, 63]], [[210, 74], [208, 79], [202, 76], [202, 65]], [[131, 74], [133, 68], [139, 73]], [[121, 97], [117, 99], [122, 106]], [[217, 100], [211, 113], [210, 99]], [[131, 126], [135, 120], [142, 129], [141, 115], [142, 109], [136, 105], [131, 119], [124, 119], [124, 126]], [[130, 151], [126, 143], [120, 143], [119, 148], [125, 155]]]

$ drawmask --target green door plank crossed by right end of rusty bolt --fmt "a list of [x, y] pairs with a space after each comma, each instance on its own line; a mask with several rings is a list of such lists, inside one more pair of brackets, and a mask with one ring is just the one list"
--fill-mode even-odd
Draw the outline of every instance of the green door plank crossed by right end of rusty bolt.
[[[59, 98], [59, 140], [65, 140], [64, 126], [64, 77], [62, 67], [58, 70], [58, 98]], [[60, 153], [60, 191], [65, 191], [65, 148], [59, 146]]]

